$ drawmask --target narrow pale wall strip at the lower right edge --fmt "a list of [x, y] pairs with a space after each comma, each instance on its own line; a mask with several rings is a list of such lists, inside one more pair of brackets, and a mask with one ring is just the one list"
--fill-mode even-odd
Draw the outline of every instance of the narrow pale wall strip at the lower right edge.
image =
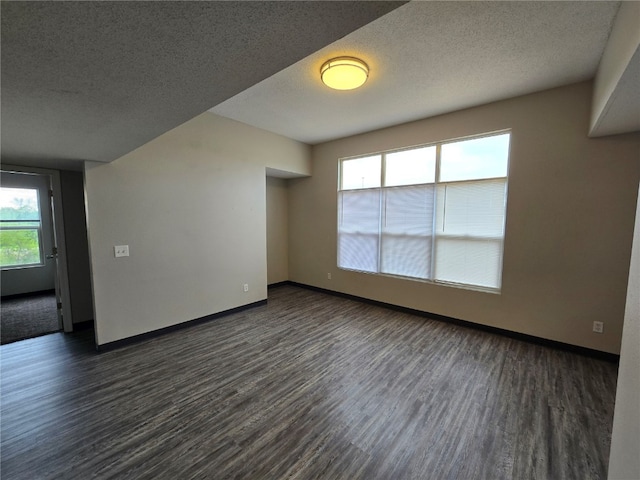
[[609, 480], [640, 478], [640, 191], [622, 331]]

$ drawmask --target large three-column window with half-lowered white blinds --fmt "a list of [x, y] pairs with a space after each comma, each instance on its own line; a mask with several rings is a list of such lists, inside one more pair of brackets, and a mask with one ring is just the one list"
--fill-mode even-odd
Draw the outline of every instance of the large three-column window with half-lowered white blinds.
[[338, 267], [499, 290], [509, 139], [342, 159]]

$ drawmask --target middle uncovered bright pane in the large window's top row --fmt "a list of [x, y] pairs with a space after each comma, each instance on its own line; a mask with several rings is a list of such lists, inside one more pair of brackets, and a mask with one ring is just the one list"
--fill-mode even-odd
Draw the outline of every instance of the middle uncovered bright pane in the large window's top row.
[[436, 177], [436, 147], [414, 148], [388, 153], [385, 161], [385, 185], [433, 183]]

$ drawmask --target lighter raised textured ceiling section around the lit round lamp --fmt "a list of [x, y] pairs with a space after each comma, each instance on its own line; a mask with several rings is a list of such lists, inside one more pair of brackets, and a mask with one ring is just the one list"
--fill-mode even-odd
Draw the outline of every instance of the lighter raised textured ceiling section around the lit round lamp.
[[[407, 3], [211, 111], [314, 144], [588, 80], [618, 7]], [[369, 64], [363, 88], [339, 92], [320, 82], [321, 64], [338, 55]]]

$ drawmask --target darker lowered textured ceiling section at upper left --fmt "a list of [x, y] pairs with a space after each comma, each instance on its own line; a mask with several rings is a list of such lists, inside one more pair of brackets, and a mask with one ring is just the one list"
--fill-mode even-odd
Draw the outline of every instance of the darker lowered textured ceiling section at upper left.
[[1, 2], [2, 161], [111, 161], [403, 2]]

